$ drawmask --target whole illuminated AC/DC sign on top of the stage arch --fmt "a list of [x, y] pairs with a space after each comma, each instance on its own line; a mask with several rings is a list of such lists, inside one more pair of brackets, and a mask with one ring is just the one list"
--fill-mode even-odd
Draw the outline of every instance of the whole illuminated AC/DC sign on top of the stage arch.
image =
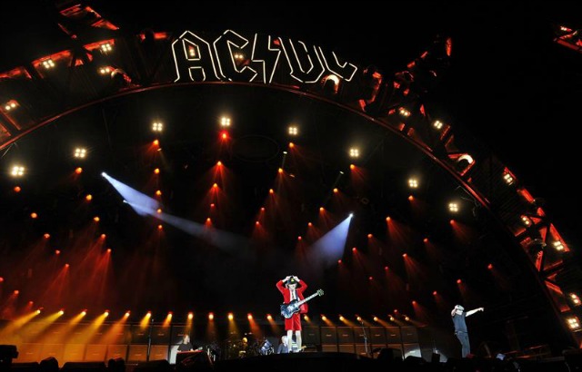
[[271, 35], [255, 34], [252, 40], [226, 30], [215, 40], [190, 31], [172, 43], [176, 63], [175, 82], [234, 81], [246, 83], [318, 83], [329, 74], [349, 82], [355, 64], [341, 62], [334, 52], [319, 46]]

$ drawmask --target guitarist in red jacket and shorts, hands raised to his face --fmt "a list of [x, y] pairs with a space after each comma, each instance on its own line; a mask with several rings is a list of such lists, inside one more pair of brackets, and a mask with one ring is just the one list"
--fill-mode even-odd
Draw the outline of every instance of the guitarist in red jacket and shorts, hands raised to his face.
[[[297, 284], [299, 287], [297, 287]], [[307, 289], [305, 281], [296, 276], [287, 276], [276, 282], [276, 288], [283, 294], [283, 300], [287, 304], [294, 299], [302, 300], [303, 292]], [[291, 352], [291, 340], [293, 339], [293, 331], [295, 331], [297, 351], [301, 351], [301, 314], [307, 312], [307, 303], [303, 303], [299, 311], [285, 319], [285, 330], [287, 331], [287, 342], [289, 343], [289, 352]]]

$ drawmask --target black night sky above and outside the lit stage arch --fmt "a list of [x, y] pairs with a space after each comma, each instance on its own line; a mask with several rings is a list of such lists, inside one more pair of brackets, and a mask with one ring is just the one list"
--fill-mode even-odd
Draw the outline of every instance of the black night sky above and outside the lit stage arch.
[[[31, 4], [28, 4], [31, 3]], [[582, 219], [577, 210], [577, 98], [582, 54], [552, 43], [552, 24], [576, 24], [563, 5], [396, 2], [379, 10], [371, 2], [313, 5], [301, 2], [89, 2], [128, 32], [159, 30], [222, 32], [228, 28], [288, 35], [332, 48], [344, 58], [386, 74], [430, 45], [437, 34], [453, 39], [451, 67], [429, 94], [454, 127], [473, 133], [506, 163], [573, 246]], [[48, 4], [48, 5], [47, 5]], [[2, 15], [8, 69], [59, 50], [65, 36], [48, 11], [51, 3], [18, 2]], [[134, 7], [135, 5], [135, 7]], [[210, 9], [210, 10], [208, 10]], [[573, 23], [574, 21], [574, 23]], [[579, 101], [578, 101], [579, 102]]]

